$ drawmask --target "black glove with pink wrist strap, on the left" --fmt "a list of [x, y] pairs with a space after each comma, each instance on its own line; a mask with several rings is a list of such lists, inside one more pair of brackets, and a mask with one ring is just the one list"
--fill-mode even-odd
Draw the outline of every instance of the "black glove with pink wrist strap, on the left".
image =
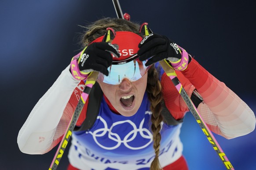
[[113, 57], [120, 57], [115, 46], [111, 43], [92, 43], [85, 47], [82, 52], [72, 58], [70, 71], [77, 80], [86, 79], [91, 71], [99, 71], [108, 76], [108, 67], [112, 64]]

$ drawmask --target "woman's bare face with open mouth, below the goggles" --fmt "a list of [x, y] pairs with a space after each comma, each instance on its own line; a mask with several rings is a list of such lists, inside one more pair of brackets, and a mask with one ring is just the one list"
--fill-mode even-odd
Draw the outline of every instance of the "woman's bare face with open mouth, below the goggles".
[[110, 85], [97, 80], [102, 92], [121, 115], [133, 116], [142, 103], [146, 91], [147, 73], [137, 81], [124, 78], [119, 85]]

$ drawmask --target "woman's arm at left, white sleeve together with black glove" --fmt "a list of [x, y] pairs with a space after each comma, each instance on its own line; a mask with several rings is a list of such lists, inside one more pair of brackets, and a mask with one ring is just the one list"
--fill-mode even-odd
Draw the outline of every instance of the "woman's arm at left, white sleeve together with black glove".
[[[90, 71], [108, 74], [107, 68], [112, 64], [110, 52], [119, 56], [118, 51], [109, 43], [92, 43], [73, 57], [70, 66], [62, 71], [38, 101], [19, 131], [17, 142], [22, 152], [43, 154], [60, 142], [79, 100], [75, 88], [81, 80], [86, 80]], [[80, 94], [79, 92], [78, 97]], [[84, 114], [79, 117], [78, 126], [85, 118], [86, 111], [82, 112]]]

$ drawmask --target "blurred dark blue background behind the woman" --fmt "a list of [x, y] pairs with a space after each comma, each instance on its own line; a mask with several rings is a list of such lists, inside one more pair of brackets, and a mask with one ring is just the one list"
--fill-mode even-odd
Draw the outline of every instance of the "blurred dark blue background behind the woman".
[[[256, 112], [254, 0], [120, 0], [132, 21], [186, 49]], [[115, 17], [111, 0], [0, 1], [0, 169], [46, 170], [56, 149], [44, 155], [19, 151], [17, 135], [33, 106], [80, 51], [79, 25]], [[188, 113], [182, 128], [190, 170], [225, 170]], [[216, 136], [236, 170], [256, 169], [256, 132], [227, 140]], [[59, 168], [68, 164], [67, 150]]]

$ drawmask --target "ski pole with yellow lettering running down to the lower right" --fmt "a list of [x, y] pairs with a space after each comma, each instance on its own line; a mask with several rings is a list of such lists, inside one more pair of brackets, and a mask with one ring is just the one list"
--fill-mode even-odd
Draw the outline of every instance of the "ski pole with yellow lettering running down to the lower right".
[[[118, 0], [115, 0], [115, 1], [117, 2], [113, 3], [114, 7], [116, 11], [118, 11], [118, 13], [121, 13], [122, 10], [121, 10], [120, 4]], [[123, 14], [119, 14], [117, 15], [117, 17], [119, 18], [120, 15], [123, 16]], [[142, 30], [144, 31], [144, 35], [149, 35], [150, 33], [153, 33], [149, 28], [147, 28], [147, 24], [144, 25], [144, 29]], [[206, 135], [208, 141], [212, 144], [213, 149], [217, 152], [217, 154], [219, 155], [219, 158], [222, 160], [227, 170], [234, 170], [234, 167], [231, 165], [230, 161], [227, 159], [226, 154], [223, 152], [220, 145], [212, 135], [212, 132], [209, 130], [207, 124], [205, 124], [205, 121], [201, 118], [199, 112], [197, 111], [197, 108], [194, 106], [194, 103], [191, 101], [190, 97], [187, 95], [187, 92], [183, 89], [183, 86], [179, 82], [179, 79], [177, 78], [177, 74], [175, 73], [171, 63], [168, 60], [162, 60], [162, 61], [159, 61], [159, 63], [161, 64], [161, 67], [163, 68], [167, 76], [172, 80], [180, 96], [183, 98], [183, 100], [187, 104], [190, 112], [193, 114], [197, 123], [199, 124], [202, 131]]]

